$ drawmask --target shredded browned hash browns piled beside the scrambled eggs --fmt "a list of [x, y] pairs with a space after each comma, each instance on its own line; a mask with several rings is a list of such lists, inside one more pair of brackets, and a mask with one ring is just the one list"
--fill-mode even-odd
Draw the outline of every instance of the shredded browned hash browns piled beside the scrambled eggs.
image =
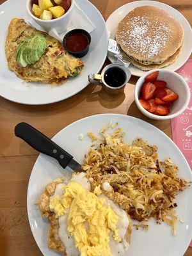
[[[155, 218], [157, 223], [166, 221], [176, 235], [175, 197], [189, 186], [188, 182], [178, 177], [178, 168], [170, 158], [159, 161], [155, 145], [141, 138], [128, 145], [123, 141], [124, 132], [116, 125], [106, 125], [99, 138], [88, 132], [93, 145], [84, 157], [83, 170], [92, 189], [100, 184], [103, 193], [133, 220], [141, 221], [143, 228], [148, 227], [146, 221]], [[111, 185], [111, 191], [104, 191], [104, 182]]]

